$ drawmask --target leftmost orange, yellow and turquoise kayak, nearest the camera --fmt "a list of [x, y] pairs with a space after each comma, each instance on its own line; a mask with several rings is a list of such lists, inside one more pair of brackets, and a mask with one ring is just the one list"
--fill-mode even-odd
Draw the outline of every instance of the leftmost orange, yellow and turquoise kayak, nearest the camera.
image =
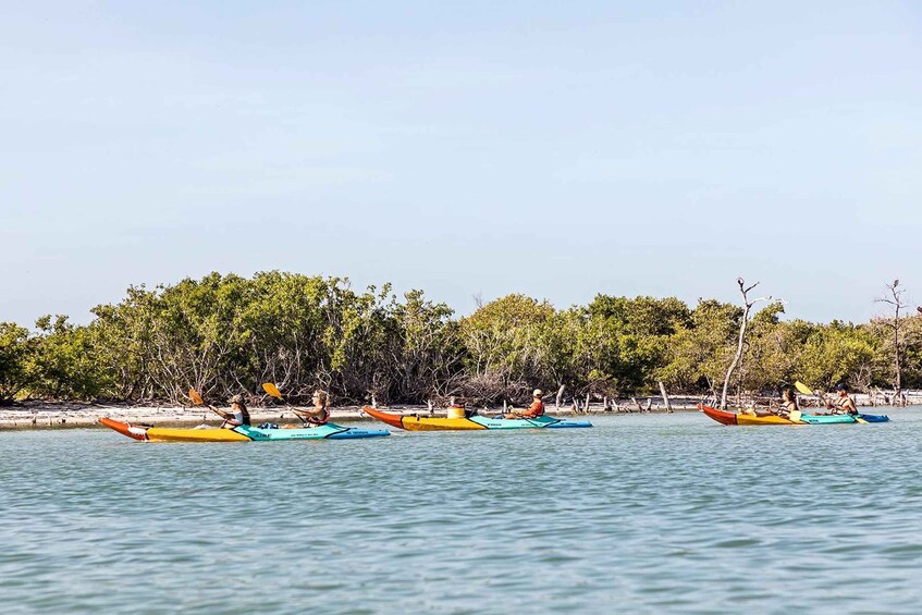
[[347, 440], [391, 435], [386, 429], [357, 429], [328, 422], [309, 429], [260, 429], [242, 425], [233, 429], [189, 429], [131, 425], [110, 418], [99, 422], [122, 435], [150, 442], [265, 442], [268, 440]]

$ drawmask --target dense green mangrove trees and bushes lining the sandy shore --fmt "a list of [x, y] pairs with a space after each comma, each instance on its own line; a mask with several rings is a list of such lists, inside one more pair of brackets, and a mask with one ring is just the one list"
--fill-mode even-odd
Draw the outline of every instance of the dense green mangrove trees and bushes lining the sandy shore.
[[[390, 285], [270, 271], [211, 273], [156, 288], [132, 286], [86, 325], [64, 316], [34, 330], [0, 322], [0, 403], [24, 398], [188, 403], [274, 382], [293, 401], [316, 388], [340, 403], [521, 399], [531, 389], [568, 396], [716, 394], [737, 350], [743, 310], [714, 299], [598, 295], [557, 309], [524, 295], [456, 317], [442, 303]], [[770, 303], [748, 323], [732, 391], [776, 392], [801, 380], [828, 389], [922, 385], [922, 317], [852, 324], [782, 320]], [[898, 317], [899, 315], [897, 315]]]

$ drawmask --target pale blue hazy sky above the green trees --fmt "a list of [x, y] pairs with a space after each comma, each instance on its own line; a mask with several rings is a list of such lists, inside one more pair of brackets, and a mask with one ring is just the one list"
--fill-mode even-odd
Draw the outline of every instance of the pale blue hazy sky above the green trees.
[[0, 321], [283, 270], [922, 302], [918, 2], [0, 4]]

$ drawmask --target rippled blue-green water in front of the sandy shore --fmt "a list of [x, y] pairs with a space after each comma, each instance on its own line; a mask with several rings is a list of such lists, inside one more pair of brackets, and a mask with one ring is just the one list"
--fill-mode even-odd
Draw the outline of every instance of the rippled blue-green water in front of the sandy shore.
[[2, 608], [919, 612], [922, 411], [884, 411], [341, 442], [2, 432]]

